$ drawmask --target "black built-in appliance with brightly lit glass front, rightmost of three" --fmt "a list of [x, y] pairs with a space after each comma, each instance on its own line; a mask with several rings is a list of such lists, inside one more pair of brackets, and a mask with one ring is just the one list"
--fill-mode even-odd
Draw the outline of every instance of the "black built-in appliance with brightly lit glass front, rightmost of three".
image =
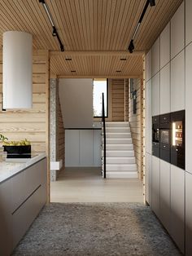
[[171, 163], [185, 170], [185, 110], [171, 113]]

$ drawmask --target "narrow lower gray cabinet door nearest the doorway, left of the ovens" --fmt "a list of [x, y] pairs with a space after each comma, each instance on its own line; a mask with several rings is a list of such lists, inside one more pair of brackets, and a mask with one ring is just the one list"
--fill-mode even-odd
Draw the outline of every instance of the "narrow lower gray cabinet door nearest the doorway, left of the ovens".
[[146, 152], [146, 202], [151, 205], [151, 154]]

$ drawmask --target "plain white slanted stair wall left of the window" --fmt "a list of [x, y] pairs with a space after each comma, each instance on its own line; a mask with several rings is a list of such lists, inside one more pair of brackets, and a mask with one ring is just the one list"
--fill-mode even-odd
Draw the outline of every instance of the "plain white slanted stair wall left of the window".
[[59, 79], [59, 99], [65, 128], [93, 127], [93, 79]]

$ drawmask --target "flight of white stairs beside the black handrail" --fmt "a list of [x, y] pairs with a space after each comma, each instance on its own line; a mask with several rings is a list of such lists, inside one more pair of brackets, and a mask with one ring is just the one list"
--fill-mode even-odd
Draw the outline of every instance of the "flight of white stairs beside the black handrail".
[[106, 178], [137, 178], [133, 142], [127, 121], [106, 122]]

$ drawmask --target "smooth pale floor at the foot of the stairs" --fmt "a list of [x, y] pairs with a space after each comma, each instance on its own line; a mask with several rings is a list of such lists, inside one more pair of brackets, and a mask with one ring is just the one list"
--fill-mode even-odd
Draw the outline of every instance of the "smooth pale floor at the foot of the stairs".
[[51, 202], [143, 202], [139, 179], [103, 179], [98, 168], [66, 168], [50, 183]]

